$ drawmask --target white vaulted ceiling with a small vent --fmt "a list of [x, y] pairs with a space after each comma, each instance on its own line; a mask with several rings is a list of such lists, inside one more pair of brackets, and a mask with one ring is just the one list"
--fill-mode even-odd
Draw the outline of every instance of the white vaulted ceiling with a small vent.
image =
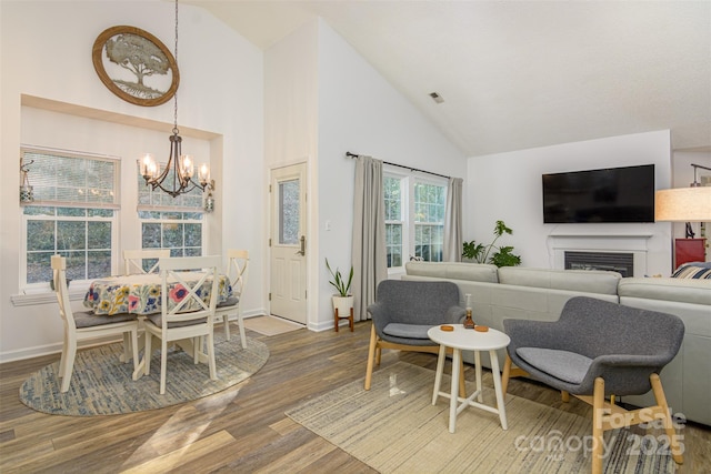
[[181, 1], [261, 49], [321, 17], [468, 157], [663, 129], [711, 151], [708, 0]]

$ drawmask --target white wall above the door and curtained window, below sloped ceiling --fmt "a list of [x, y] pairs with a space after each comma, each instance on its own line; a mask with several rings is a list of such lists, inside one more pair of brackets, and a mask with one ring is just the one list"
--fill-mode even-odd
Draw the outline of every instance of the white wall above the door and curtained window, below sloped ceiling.
[[322, 20], [270, 48], [264, 71], [266, 165], [309, 163], [308, 326], [330, 330], [324, 259], [351, 263], [354, 163], [346, 152], [461, 178], [465, 160]]

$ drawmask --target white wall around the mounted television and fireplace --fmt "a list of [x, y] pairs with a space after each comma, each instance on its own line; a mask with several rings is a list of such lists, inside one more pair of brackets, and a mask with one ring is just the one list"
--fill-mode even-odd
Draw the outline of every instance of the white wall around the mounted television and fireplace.
[[498, 244], [513, 245], [523, 266], [553, 268], [551, 234], [650, 233], [648, 274], [671, 272], [671, 224], [543, 224], [541, 175], [653, 163], [657, 189], [671, 188], [668, 130], [470, 158], [464, 240], [488, 244], [503, 220], [513, 230]]

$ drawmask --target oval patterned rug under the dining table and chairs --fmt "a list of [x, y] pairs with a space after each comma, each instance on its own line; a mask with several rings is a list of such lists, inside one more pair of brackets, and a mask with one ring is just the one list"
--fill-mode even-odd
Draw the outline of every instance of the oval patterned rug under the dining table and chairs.
[[119, 362], [122, 344], [108, 344], [77, 353], [69, 391], [59, 391], [59, 357], [34, 372], [20, 387], [20, 401], [30, 409], [54, 415], [117, 415], [162, 409], [226, 390], [259, 371], [269, 359], [267, 345], [254, 339], [242, 349], [239, 337], [224, 341], [216, 331], [218, 380], [206, 364], [194, 364], [180, 349], [168, 354], [166, 394], [160, 389], [160, 351], [151, 359], [151, 373], [131, 380], [133, 364]]

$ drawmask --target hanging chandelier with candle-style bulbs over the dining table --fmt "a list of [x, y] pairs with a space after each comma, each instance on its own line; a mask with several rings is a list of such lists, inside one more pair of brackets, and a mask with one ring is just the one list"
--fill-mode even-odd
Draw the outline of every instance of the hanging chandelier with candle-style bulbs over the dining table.
[[[176, 0], [176, 63], [178, 63], [178, 0]], [[182, 138], [178, 129], [178, 92], [173, 94], [173, 134], [170, 137], [170, 154], [166, 168], [160, 171], [160, 164], [153, 159], [152, 153], [146, 153], [140, 163], [141, 175], [146, 185], [152, 190], [157, 188], [177, 198], [196, 188], [202, 191], [210, 183], [210, 169], [201, 164], [198, 170], [198, 181], [194, 181], [194, 160], [190, 154], [182, 154], [180, 145]]]

